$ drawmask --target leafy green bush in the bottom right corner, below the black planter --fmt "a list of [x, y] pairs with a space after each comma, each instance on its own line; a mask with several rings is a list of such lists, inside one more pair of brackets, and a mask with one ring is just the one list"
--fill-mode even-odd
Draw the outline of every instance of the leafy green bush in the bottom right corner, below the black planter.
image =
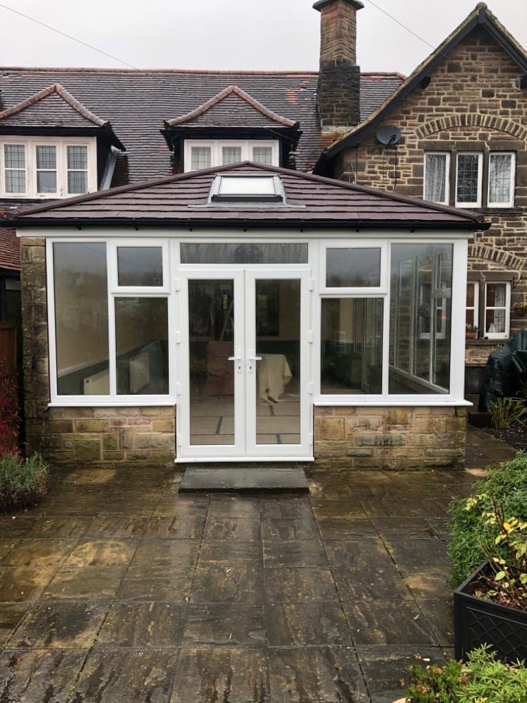
[[467, 664], [412, 666], [408, 703], [527, 703], [523, 662], [503, 664], [486, 645], [470, 652]]

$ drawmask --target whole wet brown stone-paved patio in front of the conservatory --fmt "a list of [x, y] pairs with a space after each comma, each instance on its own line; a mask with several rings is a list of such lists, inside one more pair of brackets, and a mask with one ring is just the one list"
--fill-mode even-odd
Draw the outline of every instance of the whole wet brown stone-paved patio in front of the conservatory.
[[0, 517], [0, 700], [400, 697], [415, 654], [451, 654], [445, 506], [475, 477], [306, 473], [310, 496], [255, 498], [53, 472], [41, 506]]

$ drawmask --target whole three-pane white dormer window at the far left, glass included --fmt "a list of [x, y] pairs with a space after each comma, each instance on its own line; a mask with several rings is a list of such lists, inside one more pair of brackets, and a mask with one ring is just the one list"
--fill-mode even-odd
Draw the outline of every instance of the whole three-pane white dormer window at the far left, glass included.
[[95, 138], [0, 142], [0, 195], [66, 198], [97, 190]]

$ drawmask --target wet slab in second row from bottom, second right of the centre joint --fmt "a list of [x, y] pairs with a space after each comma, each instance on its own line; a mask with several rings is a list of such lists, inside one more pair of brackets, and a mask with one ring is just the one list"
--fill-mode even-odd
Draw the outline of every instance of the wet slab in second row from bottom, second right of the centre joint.
[[435, 645], [427, 619], [412, 601], [342, 602], [356, 645]]

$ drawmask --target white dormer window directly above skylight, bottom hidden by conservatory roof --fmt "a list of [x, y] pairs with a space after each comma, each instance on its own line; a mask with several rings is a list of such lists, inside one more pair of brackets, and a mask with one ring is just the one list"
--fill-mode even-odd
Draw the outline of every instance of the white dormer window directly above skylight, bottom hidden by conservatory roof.
[[185, 141], [185, 171], [228, 166], [240, 161], [254, 161], [280, 166], [280, 149], [276, 139], [268, 141]]

